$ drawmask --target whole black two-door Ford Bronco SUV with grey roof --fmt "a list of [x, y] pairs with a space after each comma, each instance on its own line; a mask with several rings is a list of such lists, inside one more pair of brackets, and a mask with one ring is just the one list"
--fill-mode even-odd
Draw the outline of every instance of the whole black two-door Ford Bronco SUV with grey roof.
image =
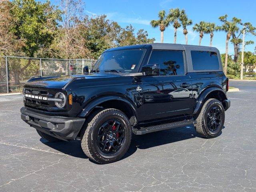
[[227, 91], [216, 48], [154, 43], [108, 49], [82, 75], [32, 77], [20, 111], [42, 138], [80, 140], [104, 164], [126, 154], [132, 132], [194, 124], [200, 136], [218, 136]]

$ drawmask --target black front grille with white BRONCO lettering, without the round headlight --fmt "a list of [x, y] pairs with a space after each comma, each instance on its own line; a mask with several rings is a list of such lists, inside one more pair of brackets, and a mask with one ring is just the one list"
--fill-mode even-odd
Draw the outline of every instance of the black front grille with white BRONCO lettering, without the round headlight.
[[[54, 98], [55, 94], [60, 92], [60, 90], [53, 90], [53, 89], [41, 89], [41, 88], [24, 88], [23, 95], [24, 95], [24, 104], [30, 108], [44, 110], [44, 111], [54, 111], [60, 110], [56, 107], [54, 101], [48, 100], [48, 98]], [[66, 93], [64, 93], [66, 95]], [[26, 97], [26, 95], [32, 95], [34, 98]], [[47, 100], [38, 99], [40, 98], [47, 98]], [[65, 109], [65, 108], [64, 108]], [[63, 109], [63, 110], [64, 110]]]

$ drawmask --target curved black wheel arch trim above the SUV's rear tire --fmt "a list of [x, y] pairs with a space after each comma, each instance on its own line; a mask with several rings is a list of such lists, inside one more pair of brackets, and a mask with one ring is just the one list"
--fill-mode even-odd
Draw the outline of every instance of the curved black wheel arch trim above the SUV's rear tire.
[[228, 98], [227, 98], [224, 90], [222, 90], [218, 87], [210, 87], [210, 88], [206, 88], [198, 96], [198, 98], [196, 100], [196, 106], [194, 107], [193, 114], [198, 114], [200, 112], [202, 106], [206, 102], [206, 100], [208, 100], [210, 98], [218, 99], [220, 102], [222, 102], [222, 105], [224, 106], [224, 108], [226, 107], [225, 106], [226, 103], [224, 102], [224, 100], [227, 100]]

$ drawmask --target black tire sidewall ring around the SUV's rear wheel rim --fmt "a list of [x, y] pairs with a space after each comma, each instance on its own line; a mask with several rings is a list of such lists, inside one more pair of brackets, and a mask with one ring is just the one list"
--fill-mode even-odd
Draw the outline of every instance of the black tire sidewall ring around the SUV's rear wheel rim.
[[[216, 131], [212, 132], [207, 126], [207, 114], [214, 106], [218, 107], [218, 109], [220, 110], [221, 121], [220, 121], [219, 128]], [[212, 100], [212, 102], [209, 102], [206, 106], [206, 110], [204, 111], [204, 117], [203, 117], [203, 123], [204, 123], [206, 134], [210, 137], [218, 136], [224, 126], [224, 121], [225, 121], [225, 112], [222, 104], [218, 100]]]

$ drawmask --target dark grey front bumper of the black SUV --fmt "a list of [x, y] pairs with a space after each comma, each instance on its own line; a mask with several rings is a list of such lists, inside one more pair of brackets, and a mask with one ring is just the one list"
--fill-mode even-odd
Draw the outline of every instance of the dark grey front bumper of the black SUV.
[[37, 130], [61, 140], [74, 140], [82, 128], [84, 118], [70, 118], [62, 116], [47, 116], [20, 109], [21, 119]]

